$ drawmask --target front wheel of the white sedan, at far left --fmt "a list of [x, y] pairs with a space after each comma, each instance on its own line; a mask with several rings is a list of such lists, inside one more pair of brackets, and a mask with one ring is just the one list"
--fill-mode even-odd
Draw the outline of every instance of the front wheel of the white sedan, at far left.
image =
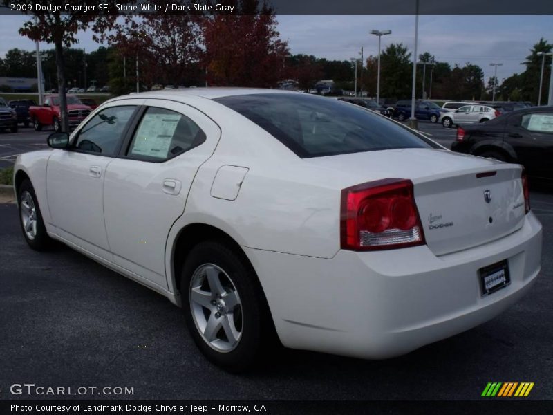
[[19, 223], [26, 242], [34, 250], [46, 250], [52, 240], [46, 233], [37, 195], [28, 178], [19, 185], [17, 201], [19, 202]]

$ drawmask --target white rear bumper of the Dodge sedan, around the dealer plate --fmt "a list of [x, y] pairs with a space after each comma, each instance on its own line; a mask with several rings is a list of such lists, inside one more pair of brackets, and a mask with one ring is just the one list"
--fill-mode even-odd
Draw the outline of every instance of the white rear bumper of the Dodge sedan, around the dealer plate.
[[[359, 358], [408, 353], [486, 322], [518, 301], [540, 270], [541, 224], [436, 257], [427, 246], [340, 250], [332, 259], [244, 248], [286, 347]], [[511, 284], [482, 297], [478, 270], [503, 259]]]

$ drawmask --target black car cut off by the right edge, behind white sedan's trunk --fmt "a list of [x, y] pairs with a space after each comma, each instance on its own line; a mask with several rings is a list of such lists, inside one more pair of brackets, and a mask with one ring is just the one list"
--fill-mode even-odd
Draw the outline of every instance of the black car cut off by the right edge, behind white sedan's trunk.
[[458, 127], [453, 151], [524, 165], [529, 176], [553, 178], [553, 107], [505, 113]]

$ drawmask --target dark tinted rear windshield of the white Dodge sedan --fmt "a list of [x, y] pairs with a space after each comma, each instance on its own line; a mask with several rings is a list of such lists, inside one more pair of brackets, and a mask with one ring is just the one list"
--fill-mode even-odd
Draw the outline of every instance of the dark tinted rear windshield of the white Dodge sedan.
[[216, 101], [265, 129], [301, 158], [437, 147], [372, 111], [338, 100], [270, 93]]

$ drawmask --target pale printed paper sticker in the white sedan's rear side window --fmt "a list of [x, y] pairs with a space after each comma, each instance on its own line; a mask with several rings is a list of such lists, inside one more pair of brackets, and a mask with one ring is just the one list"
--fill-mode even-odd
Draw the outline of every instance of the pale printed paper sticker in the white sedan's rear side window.
[[145, 114], [136, 133], [131, 154], [168, 158], [169, 146], [180, 118], [179, 114]]

